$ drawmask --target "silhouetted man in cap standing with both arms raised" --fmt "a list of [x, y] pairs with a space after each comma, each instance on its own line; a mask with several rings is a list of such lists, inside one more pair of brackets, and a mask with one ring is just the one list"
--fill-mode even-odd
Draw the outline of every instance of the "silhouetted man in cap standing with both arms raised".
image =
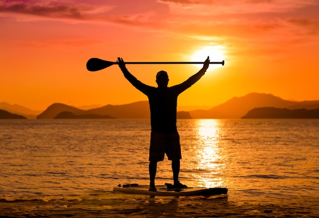
[[132, 75], [125, 66], [122, 58], [117, 58], [118, 65], [124, 77], [139, 91], [148, 97], [151, 113], [151, 140], [149, 148], [149, 178], [150, 191], [156, 191], [155, 176], [157, 162], [163, 161], [165, 153], [169, 160], [172, 160], [172, 171], [174, 188], [187, 187], [178, 180], [181, 151], [179, 134], [176, 128], [176, 107], [177, 97], [180, 93], [190, 88], [206, 72], [209, 66], [209, 57], [204, 62], [203, 68], [196, 74], [185, 80], [183, 83], [168, 87], [168, 74], [166, 71], [159, 71], [156, 74], [156, 87], [143, 84]]

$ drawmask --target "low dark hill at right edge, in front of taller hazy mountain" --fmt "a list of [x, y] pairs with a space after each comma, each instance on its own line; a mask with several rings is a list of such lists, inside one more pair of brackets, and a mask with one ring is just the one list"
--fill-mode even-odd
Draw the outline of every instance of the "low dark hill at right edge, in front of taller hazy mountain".
[[257, 107], [249, 111], [242, 119], [319, 119], [319, 109], [307, 110], [276, 107]]

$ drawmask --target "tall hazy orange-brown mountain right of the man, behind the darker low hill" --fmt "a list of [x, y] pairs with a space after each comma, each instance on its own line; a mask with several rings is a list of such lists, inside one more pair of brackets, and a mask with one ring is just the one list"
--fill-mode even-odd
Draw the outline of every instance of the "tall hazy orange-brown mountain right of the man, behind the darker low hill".
[[272, 94], [250, 93], [243, 97], [234, 97], [225, 103], [212, 107], [210, 110], [190, 111], [195, 119], [238, 119], [245, 116], [255, 107], [277, 107], [277, 108], [313, 108], [319, 101], [288, 101]]

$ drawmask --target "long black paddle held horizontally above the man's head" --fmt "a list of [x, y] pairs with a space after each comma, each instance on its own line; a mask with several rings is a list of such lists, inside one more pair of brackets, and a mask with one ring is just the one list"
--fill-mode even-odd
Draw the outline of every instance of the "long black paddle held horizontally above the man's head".
[[[98, 71], [118, 64], [118, 62], [105, 61], [99, 58], [91, 58], [87, 62], [87, 69], [89, 71]], [[204, 62], [125, 62], [125, 64], [204, 64]], [[209, 62], [209, 64], [221, 64], [224, 66], [225, 62]]]

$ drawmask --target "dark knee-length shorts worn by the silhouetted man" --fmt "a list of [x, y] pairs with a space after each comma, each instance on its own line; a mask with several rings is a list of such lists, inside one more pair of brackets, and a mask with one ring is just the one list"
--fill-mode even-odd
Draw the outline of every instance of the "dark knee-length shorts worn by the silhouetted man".
[[163, 161], [165, 153], [169, 160], [181, 159], [178, 132], [151, 132], [150, 161]]

